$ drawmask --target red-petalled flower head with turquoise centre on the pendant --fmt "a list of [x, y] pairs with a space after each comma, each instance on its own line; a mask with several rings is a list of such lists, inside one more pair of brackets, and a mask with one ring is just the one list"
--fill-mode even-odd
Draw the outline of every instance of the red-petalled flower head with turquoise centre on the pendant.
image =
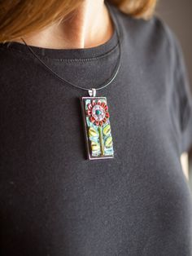
[[87, 104], [86, 115], [89, 117], [89, 121], [93, 122], [96, 126], [103, 126], [103, 124], [109, 118], [107, 104], [100, 99], [93, 99], [92, 103]]

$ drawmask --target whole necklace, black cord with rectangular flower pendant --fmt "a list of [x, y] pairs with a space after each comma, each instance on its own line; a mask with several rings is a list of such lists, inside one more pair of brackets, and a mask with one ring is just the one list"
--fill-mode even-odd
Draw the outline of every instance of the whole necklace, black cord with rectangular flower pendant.
[[[110, 5], [106, 2], [108, 10], [111, 9]], [[111, 16], [113, 18], [113, 24], [115, 24], [116, 33], [118, 36], [118, 45], [120, 46], [120, 30], [119, 25], [117, 24], [116, 16], [113, 14], [111, 9]], [[96, 97], [96, 91], [105, 88], [110, 85], [111, 82], [115, 79], [119, 69], [120, 69], [120, 59], [121, 59], [121, 46], [120, 46], [120, 55], [118, 59], [118, 64], [116, 65], [115, 72], [113, 73], [109, 82], [106, 82], [103, 86], [98, 88], [85, 88], [81, 86], [76, 86], [71, 82], [68, 82], [60, 77], [55, 71], [53, 71], [49, 66], [47, 66], [36, 53], [32, 50], [30, 46], [21, 38], [24, 44], [28, 47], [28, 50], [33, 53], [33, 55], [50, 70], [51, 73], [54, 73], [61, 81], [67, 82], [71, 86], [75, 86], [81, 90], [88, 90], [89, 97], [80, 97], [81, 100], [81, 111], [84, 123], [85, 131], [85, 142], [86, 142], [86, 151], [87, 158], [89, 160], [95, 159], [105, 159], [105, 158], [114, 158], [114, 146], [111, 135], [111, 123], [109, 120], [109, 112], [107, 106], [106, 97]], [[108, 79], [107, 79], [108, 81]]]

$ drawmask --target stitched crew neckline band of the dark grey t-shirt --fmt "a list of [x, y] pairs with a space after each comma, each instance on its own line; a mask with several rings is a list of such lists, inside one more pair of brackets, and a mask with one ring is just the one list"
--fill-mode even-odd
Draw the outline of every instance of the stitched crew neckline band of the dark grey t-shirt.
[[[105, 0], [106, 2], [107, 0]], [[72, 48], [72, 49], [53, 49], [53, 48], [44, 48], [39, 46], [30, 46], [32, 50], [41, 57], [46, 57], [50, 59], [57, 59], [57, 60], [66, 60], [66, 59], [94, 59], [99, 56], [107, 55], [114, 48], [116, 48], [118, 44], [118, 34], [117, 28], [120, 31], [120, 26], [118, 22], [116, 22], [117, 15], [115, 15], [116, 7], [113, 6], [110, 2], [107, 2], [107, 7], [109, 14], [111, 15], [111, 20], [113, 22], [113, 33], [112, 36], [107, 42], [100, 44], [98, 46], [89, 47], [89, 48]], [[24, 43], [20, 42], [6, 42], [2, 44], [2, 46], [6, 47], [7, 49], [15, 49], [20, 51], [24, 54], [33, 55], [31, 51], [29, 51], [28, 47]]]

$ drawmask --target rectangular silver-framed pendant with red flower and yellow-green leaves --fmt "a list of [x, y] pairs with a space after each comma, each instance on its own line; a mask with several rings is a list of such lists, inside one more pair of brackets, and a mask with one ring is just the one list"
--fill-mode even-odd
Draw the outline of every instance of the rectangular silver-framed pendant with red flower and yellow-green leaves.
[[114, 158], [106, 97], [81, 97], [85, 143], [89, 160]]

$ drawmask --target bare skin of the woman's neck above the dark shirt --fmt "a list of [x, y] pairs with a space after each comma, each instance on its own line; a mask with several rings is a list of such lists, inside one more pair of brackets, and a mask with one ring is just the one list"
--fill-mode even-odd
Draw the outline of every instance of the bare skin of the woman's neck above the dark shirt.
[[[30, 46], [55, 49], [94, 47], [107, 42], [113, 33], [111, 16], [104, 0], [84, 0], [81, 7], [59, 23], [22, 37]], [[16, 42], [23, 42], [21, 39]]]

